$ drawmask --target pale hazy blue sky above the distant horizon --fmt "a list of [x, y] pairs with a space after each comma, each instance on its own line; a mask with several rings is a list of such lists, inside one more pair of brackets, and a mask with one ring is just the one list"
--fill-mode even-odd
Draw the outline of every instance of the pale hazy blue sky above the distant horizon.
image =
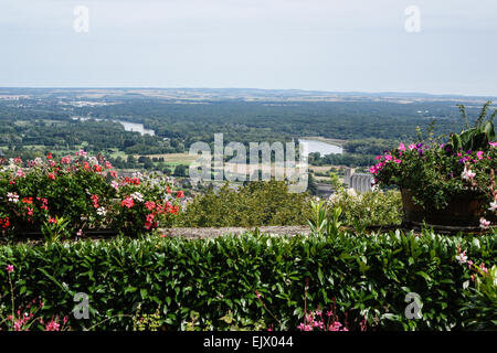
[[0, 86], [497, 96], [496, 19], [496, 0], [0, 0]]

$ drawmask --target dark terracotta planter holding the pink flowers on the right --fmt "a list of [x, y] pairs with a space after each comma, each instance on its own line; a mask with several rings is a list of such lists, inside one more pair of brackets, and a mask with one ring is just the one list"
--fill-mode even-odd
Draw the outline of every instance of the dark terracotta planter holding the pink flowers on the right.
[[443, 210], [421, 207], [412, 201], [411, 190], [401, 190], [404, 217], [408, 222], [441, 226], [477, 227], [479, 218], [488, 208], [488, 202], [482, 194], [455, 194]]

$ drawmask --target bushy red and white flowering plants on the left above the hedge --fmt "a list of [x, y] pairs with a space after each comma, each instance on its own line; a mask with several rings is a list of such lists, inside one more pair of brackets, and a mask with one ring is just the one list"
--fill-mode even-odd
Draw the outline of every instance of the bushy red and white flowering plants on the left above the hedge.
[[60, 218], [78, 236], [99, 228], [135, 235], [151, 231], [179, 212], [176, 200], [182, 193], [168, 196], [169, 185], [163, 178], [118, 178], [104, 157], [83, 150], [59, 161], [51, 153], [11, 159], [0, 165], [0, 234], [47, 231]]

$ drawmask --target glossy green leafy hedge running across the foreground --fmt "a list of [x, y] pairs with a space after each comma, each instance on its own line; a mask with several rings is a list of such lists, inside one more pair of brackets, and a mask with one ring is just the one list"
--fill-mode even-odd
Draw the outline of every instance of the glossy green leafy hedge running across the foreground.
[[[73, 329], [134, 313], [140, 306], [141, 313], [159, 308], [167, 330], [184, 328], [193, 311], [201, 328], [226, 329], [220, 319], [231, 311], [244, 327], [263, 320], [275, 329], [295, 330], [303, 318], [306, 278], [307, 307], [326, 310], [335, 298], [337, 309], [348, 311], [352, 330], [363, 315], [377, 330], [464, 329], [472, 313], [461, 309], [473, 292], [463, 289], [470, 270], [455, 260], [458, 244], [477, 264], [495, 261], [495, 234], [463, 238], [430, 232], [337, 237], [246, 234], [207, 240], [147, 236], [1, 246], [0, 315], [10, 310], [4, 269], [12, 264], [15, 304], [40, 297], [44, 317], [70, 314]], [[282, 324], [262, 307], [256, 291]], [[71, 314], [75, 292], [89, 295], [89, 320]], [[421, 296], [423, 319], [405, 319], [408, 292]], [[130, 327], [129, 318], [120, 318], [98, 329]]]

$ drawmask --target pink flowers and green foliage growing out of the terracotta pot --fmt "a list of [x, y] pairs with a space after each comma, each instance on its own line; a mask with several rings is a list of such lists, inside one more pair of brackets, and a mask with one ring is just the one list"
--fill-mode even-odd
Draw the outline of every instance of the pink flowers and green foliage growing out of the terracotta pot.
[[[488, 103], [475, 127], [459, 135], [452, 133], [446, 143], [440, 143], [440, 139], [420, 139], [417, 143], [400, 143], [377, 157], [378, 164], [370, 168], [374, 183], [410, 190], [414, 203], [425, 208], [444, 208], [454, 195], [474, 195], [486, 199], [487, 211], [494, 214], [497, 208], [497, 142], [493, 141], [496, 113], [484, 122], [487, 107]], [[482, 220], [483, 227], [488, 226], [487, 222]]]

